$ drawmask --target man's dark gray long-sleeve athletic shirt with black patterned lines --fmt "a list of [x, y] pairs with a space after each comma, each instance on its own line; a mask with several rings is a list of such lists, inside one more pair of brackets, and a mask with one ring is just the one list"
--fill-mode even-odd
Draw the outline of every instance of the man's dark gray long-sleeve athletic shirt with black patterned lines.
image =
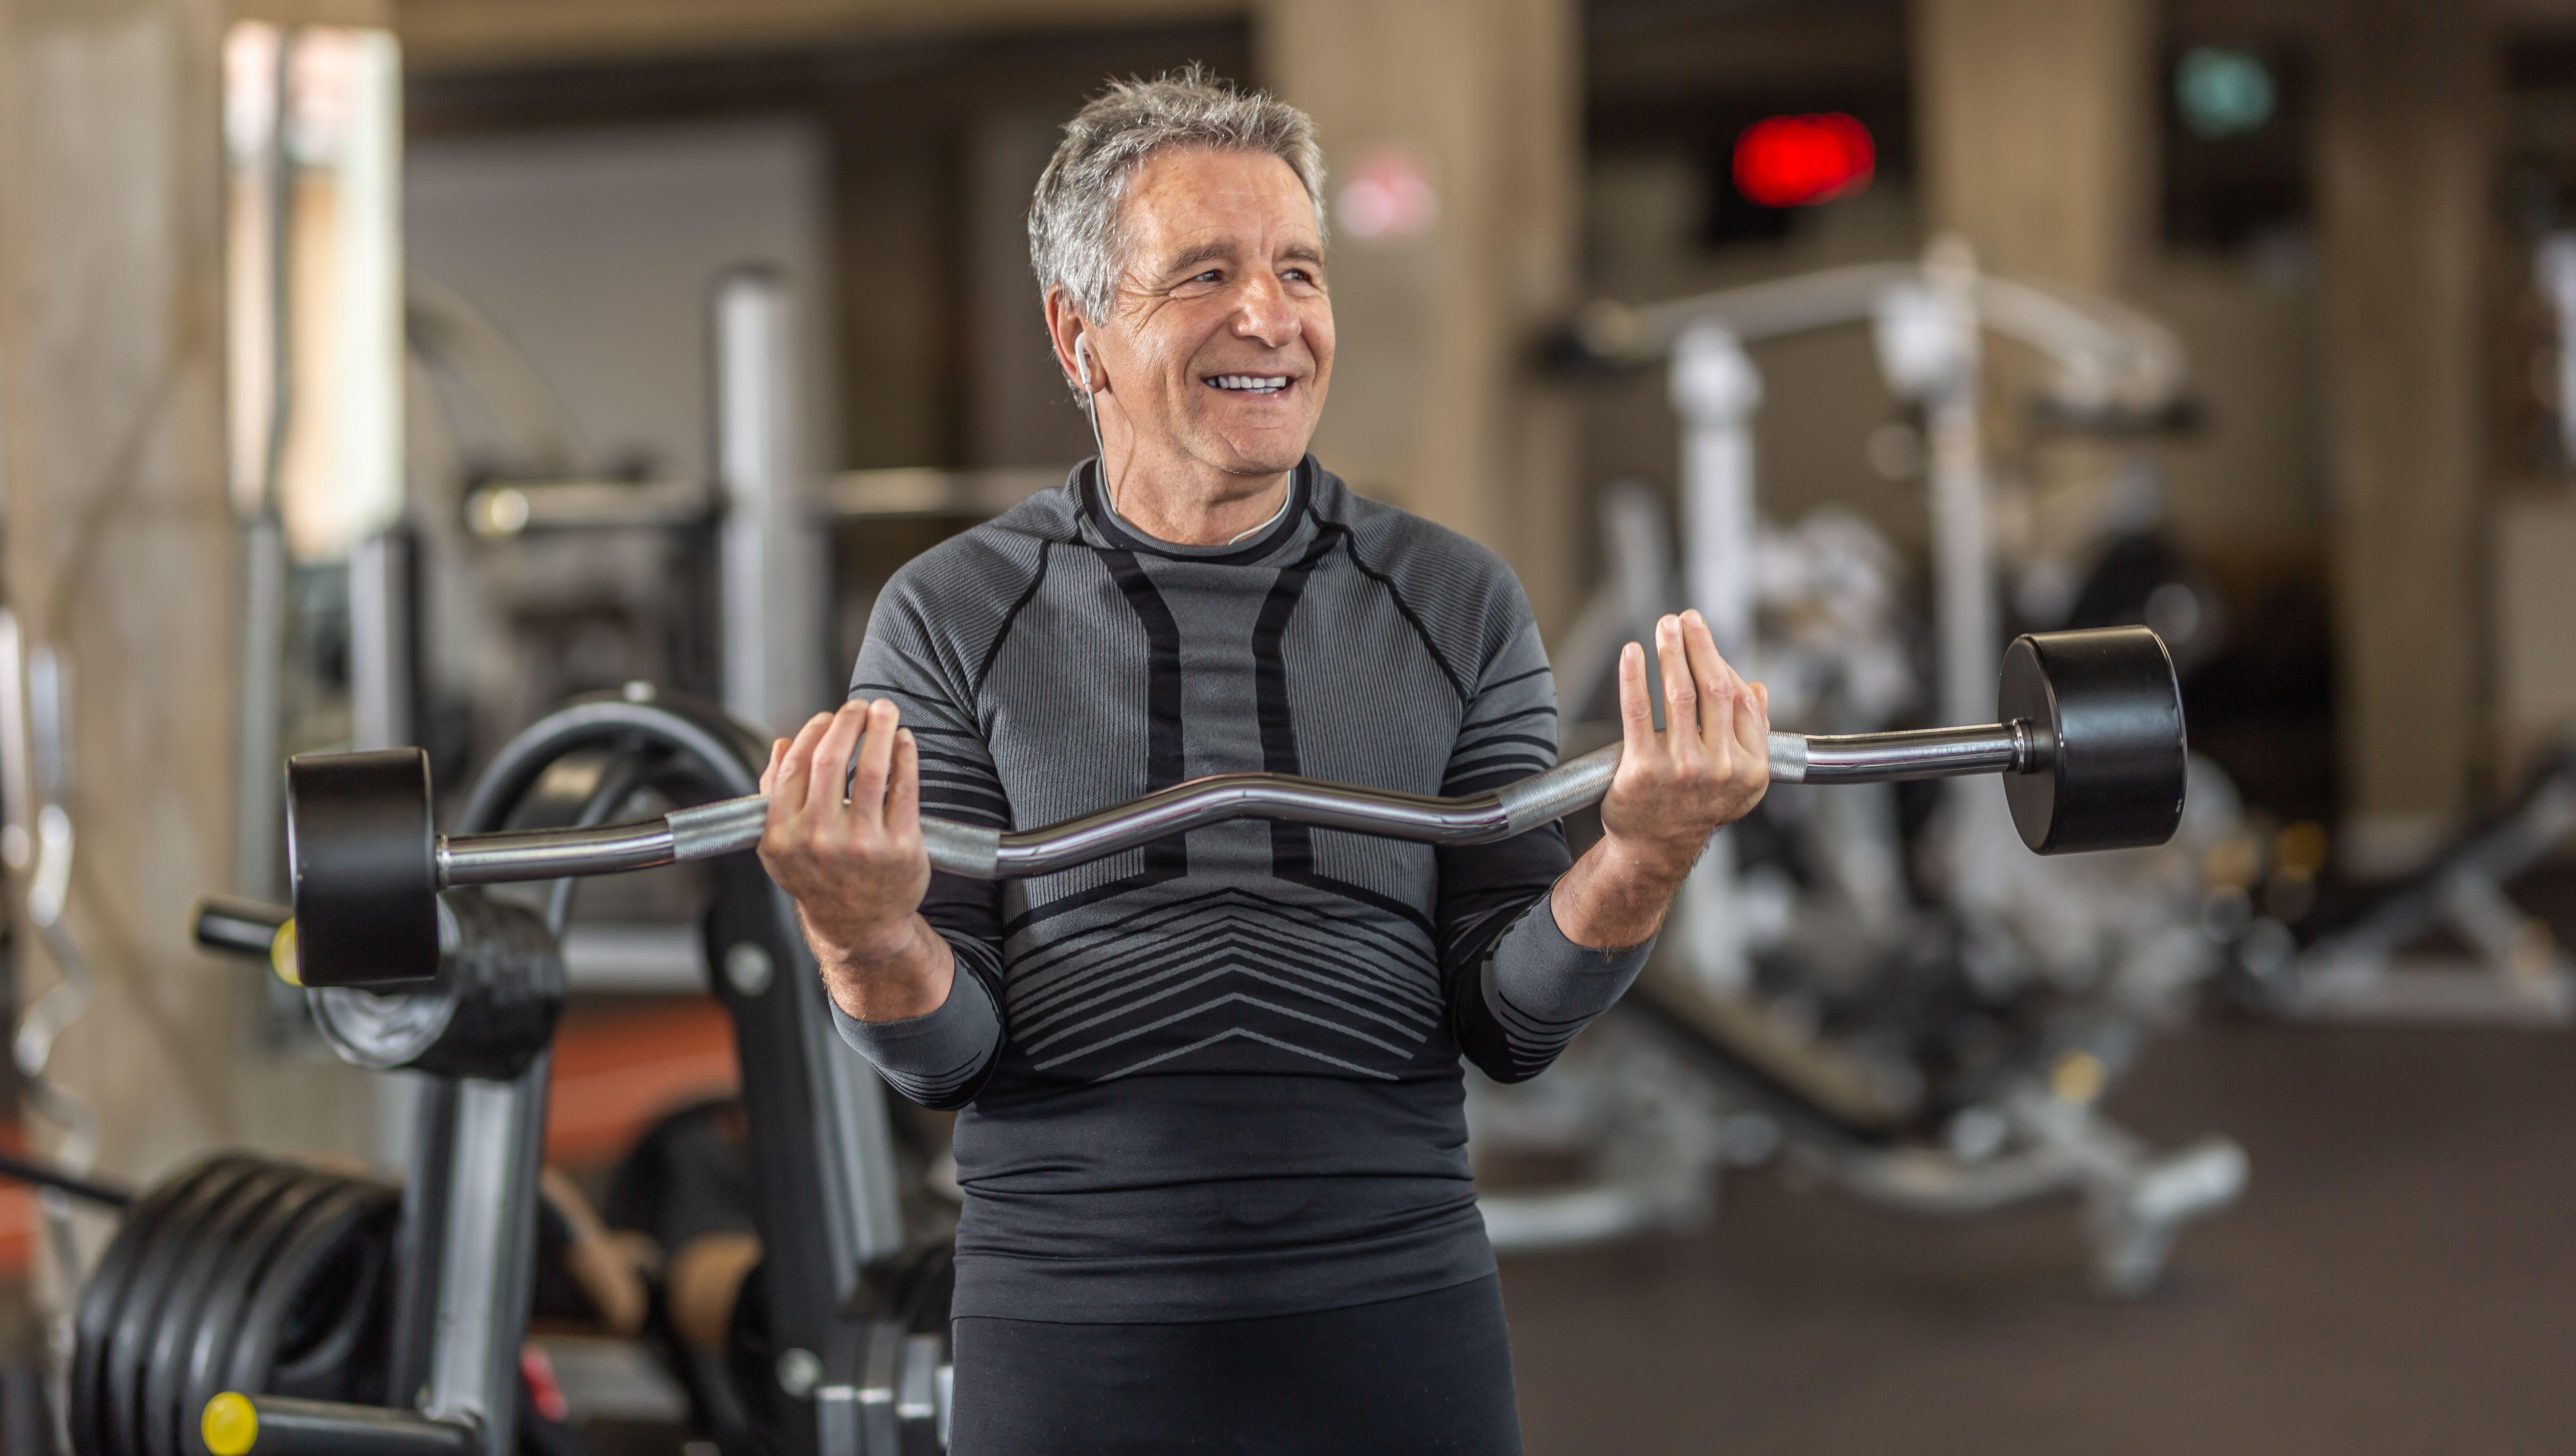
[[[1234, 546], [1170, 546], [1090, 466], [896, 572], [850, 693], [922, 812], [1038, 827], [1185, 778], [1476, 794], [1556, 763], [1510, 567], [1306, 459]], [[956, 1124], [956, 1314], [1298, 1314], [1481, 1278], [1461, 1051], [1538, 1075], [1646, 948], [1564, 938], [1551, 825], [1430, 848], [1234, 822], [1010, 884], [933, 876], [948, 1000], [842, 1036]]]

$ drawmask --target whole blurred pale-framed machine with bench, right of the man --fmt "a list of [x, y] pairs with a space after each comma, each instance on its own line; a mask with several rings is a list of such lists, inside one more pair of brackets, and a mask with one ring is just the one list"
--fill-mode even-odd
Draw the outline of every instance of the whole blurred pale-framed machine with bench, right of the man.
[[[1978, 335], [2022, 340], [2050, 363], [2038, 410], [2050, 428], [2128, 436], [2184, 407], [2182, 350], [2161, 325], [1978, 273], [1947, 242], [1922, 265], [1587, 309], [1569, 340], [1584, 366], [1669, 363], [1685, 531], [1674, 551], [1651, 492], [1607, 492], [1610, 572], [1556, 652], [1569, 752], [1610, 732], [1582, 719], [1613, 701], [1618, 644], [1680, 606], [1698, 606], [1728, 660], [1772, 685], [1775, 722], [1860, 732], [1909, 706], [1893, 551], [1847, 513], [1780, 531], [1754, 510], [1762, 379], [1747, 345], [1842, 325], [1873, 327], [1891, 392], [1929, 436], [1940, 716], [1981, 693], [2004, 642]], [[1571, 1188], [1489, 1193], [1497, 1245], [1687, 1227], [1713, 1206], [1726, 1165], [1785, 1147], [1829, 1183], [1919, 1214], [2074, 1193], [2097, 1281], [2148, 1288], [2174, 1234], [2236, 1198], [2244, 1152], [2226, 1139], [2156, 1152], [2097, 1103], [2146, 1028], [2218, 969], [2221, 946], [2197, 925], [2192, 845], [2233, 819], [2233, 796], [2195, 763], [2177, 850], [2084, 866], [2014, 853], [2002, 814], [1984, 786], [1947, 786], [1914, 856], [1929, 868], [1929, 907], [1914, 905], [1888, 791], [1783, 786], [1721, 835], [1592, 1046], [1543, 1082], [1479, 1087], [1471, 1113], [1489, 1152], [1592, 1165]], [[1757, 863], [1739, 863], [1739, 845]], [[1886, 982], [1904, 990], [1891, 997]]]

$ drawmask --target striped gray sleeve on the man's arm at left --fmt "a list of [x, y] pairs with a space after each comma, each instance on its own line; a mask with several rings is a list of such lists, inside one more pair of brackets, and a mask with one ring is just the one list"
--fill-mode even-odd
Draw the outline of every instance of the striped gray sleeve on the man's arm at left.
[[[917, 562], [920, 564], [920, 562]], [[981, 593], [979, 593], [981, 595]], [[1007, 631], [1010, 621], [994, 631]], [[850, 673], [853, 698], [891, 698], [922, 758], [922, 814], [1007, 830], [1010, 799], [974, 714], [974, 665], [945, 642], [912, 567], [868, 613], [868, 639]], [[989, 657], [989, 652], [987, 652]], [[1002, 1059], [1002, 886], [930, 876], [922, 920], [948, 941], [956, 979], [948, 1000], [909, 1020], [863, 1023], [832, 1010], [855, 1046], [896, 1093], [925, 1108], [963, 1108]]]

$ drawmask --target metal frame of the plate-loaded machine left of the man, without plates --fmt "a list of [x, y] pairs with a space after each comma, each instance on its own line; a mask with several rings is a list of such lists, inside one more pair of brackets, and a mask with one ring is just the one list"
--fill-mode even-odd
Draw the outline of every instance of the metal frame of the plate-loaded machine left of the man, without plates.
[[[765, 750], [719, 709], [644, 691], [549, 714], [492, 760], [456, 817], [474, 830], [577, 830], [636, 794], [675, 804], [757, 789]], [[896, 1456], [945, 1443], [940, 1247], [907, 1240], [899, 1165], [876, 1072], [832, 1028], [793, 910], [747, 853], [708, 861], [703, 923], [711, 995], [732, 1018], [762, 1242], [765, 1335], [778, 1397], [762, 1448]], [[245, 1451], [474, 1451], [518, 1441], [520, 1337], [536, 1268], [546, 1041], [559, 1005], [554, 941], [572, 907], [554, 881], [544, 915], [448, 897], [430, 982], [312, 987], [335, 1049], [376, 1069], [425, 1069], [397, 1240], [386, 1402], [247, 1397]], [[258, 915], [206, 917], [227, 948], [258, 943]], [[528, 1002], [544, 1002], [533, 1015]], [[515, 1013], [515, 1015], [513, 1015]], [[139, 1312], [137, 1312], [139, 1314]], [[113, 1325], [113, 1319], [100, 1319]]]

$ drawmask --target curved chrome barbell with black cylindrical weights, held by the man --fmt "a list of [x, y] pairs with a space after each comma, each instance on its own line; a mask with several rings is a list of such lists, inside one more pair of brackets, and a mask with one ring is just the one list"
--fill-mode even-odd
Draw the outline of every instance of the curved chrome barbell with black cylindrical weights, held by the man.
[[[2022, 843], [2038, 853], [2161, 845], [2182, 822], [2182, 685], [2143, 626], [2048, 631], [2004, 652], [2002, 722], [1844, 737], [1770, 734], [1775, 783], [1886, 783], [2004, 776]], [[1620, 747], [1461, 799], [1218, 773], [1043, 830], [922, 819], [930, 863], [969, 879], [1025, 879], [1226, 819], [1283, 819], [1435, 845], [1507, 840], [1597, 804]], [[438, 892], [714, 858], [760, 843], [765, 796], [580, 830], [440, 835], [428, 755], [307, 752], [286, 763], [294, 969], [309, 984], [379, 984], [438, 972]], [[281, 961], [283, 964], [283, 961]]]

